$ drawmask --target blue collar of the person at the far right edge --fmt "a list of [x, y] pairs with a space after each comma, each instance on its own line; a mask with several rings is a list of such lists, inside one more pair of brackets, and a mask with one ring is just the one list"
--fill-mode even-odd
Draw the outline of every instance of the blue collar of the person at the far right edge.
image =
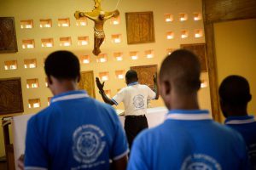
[[254, 116], [229, 116], [225, 120], [225, 124], [244, 124], [255, 122]]

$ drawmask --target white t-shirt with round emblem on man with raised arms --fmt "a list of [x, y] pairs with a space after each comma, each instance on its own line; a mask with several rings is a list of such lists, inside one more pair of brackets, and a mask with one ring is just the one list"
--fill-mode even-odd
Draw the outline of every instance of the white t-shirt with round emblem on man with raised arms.
[[113, 96], [112, 101], [115, 105], [124, 102], [125, 116], [139, 116], [147, 113], [147, 100], [154, 99], [155, 95], [148, 86], [132, 82]]

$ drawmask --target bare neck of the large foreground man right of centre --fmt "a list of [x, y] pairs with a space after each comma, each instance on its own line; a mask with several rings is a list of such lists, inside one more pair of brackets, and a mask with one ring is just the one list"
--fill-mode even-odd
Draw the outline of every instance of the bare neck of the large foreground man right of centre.
[[172, 110], [199, 110], [197, 93], [183, 95], [183, 94], [173, 94], [172, 105], [170, 106]]

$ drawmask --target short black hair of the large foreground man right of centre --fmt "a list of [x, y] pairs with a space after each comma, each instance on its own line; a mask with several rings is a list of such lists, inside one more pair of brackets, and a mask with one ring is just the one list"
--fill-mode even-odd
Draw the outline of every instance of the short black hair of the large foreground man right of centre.
[[201, 65], [198, 57], [185, 49], [178, 49], [168, 55], [160, 67], [160, 82], [173, 82], [179, 94], [192, 94], [198, 91]]

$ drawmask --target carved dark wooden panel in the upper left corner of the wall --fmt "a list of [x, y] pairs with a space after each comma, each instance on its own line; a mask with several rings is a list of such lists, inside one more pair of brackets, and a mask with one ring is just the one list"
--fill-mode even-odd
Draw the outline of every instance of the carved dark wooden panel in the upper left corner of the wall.
[[0, 17], [0, 53], [17, 52], [15, 18]]

